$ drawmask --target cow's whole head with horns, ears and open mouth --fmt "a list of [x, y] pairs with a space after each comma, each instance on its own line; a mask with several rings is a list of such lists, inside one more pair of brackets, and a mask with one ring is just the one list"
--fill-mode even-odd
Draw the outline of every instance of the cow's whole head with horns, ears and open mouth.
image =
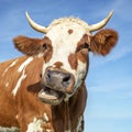
[[82, 85], [88, 72], [88, 52], [107, 55], [116, 45], [118, 34], [113, 30], [92, 31], [103, 28], [112, 12], [101, 22], [88, 25], [76, 18], [63, 18], [45, 28], [36, 24], [26, 13], [30, 25], [42, 33], [44, 38], [18, 36], [15, 47], [29, 56], [44, 58], [42, 67], [42, 101], [58, 105], [68, 100]]

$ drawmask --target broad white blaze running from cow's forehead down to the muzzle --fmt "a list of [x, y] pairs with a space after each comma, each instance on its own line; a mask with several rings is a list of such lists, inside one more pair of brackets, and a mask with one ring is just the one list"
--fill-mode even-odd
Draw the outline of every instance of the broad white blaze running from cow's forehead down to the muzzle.
[[[73, 33], [69, 34], [68, 30], [73, 30]], [[46, 67], [53, 66], [56, 62], [62, 62], [62, 68], [76, 77], [77, 73], [75, 69], [72, 69], [68, 56], [76, 52], [77, 44], [84, 34], [87, 34], [86, 28], [73, 21], [64, 21], [63, 23], [52, 26], [46, 36], [52, 41], [53, 55], [51, 61], [44, 64], [43, 74]]]

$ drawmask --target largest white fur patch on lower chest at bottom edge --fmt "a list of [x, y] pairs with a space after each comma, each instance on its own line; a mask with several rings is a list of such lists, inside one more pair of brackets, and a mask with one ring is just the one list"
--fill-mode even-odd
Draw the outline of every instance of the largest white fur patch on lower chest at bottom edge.
[[26, 132], [43, 132], [43, 129], [41, 127], [42, 123], [42, 120], [37, 120], [36, 118], [34, 118], [33, 122], [28, 125]]

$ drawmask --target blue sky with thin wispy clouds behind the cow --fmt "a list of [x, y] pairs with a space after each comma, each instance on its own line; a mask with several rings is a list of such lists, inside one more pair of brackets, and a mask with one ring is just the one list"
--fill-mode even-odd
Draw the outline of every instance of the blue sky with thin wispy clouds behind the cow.
[[107, 57], [90, 54], [85, 132], [132, 132], [132, 1], [0, 0], [0, 62], [22, 55], [12, 44], [14, 36], [43, 36], [30, 28], [25, 11], [48, 25], [56, 18], [72, 15], [94, 24], [111, 10], [114, 14], [106, 28], [117, 30], [120, 37]]

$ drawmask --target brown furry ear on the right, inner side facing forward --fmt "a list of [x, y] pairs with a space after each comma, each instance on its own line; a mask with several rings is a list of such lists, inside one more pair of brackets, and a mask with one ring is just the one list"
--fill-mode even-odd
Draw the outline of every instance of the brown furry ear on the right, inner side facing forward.
[[118, 33], [113, 30], [107, 29], [99, 31], [91, 36], [90, 51], [95, 54], [106, 56], [116, 46], [118, 42]]

